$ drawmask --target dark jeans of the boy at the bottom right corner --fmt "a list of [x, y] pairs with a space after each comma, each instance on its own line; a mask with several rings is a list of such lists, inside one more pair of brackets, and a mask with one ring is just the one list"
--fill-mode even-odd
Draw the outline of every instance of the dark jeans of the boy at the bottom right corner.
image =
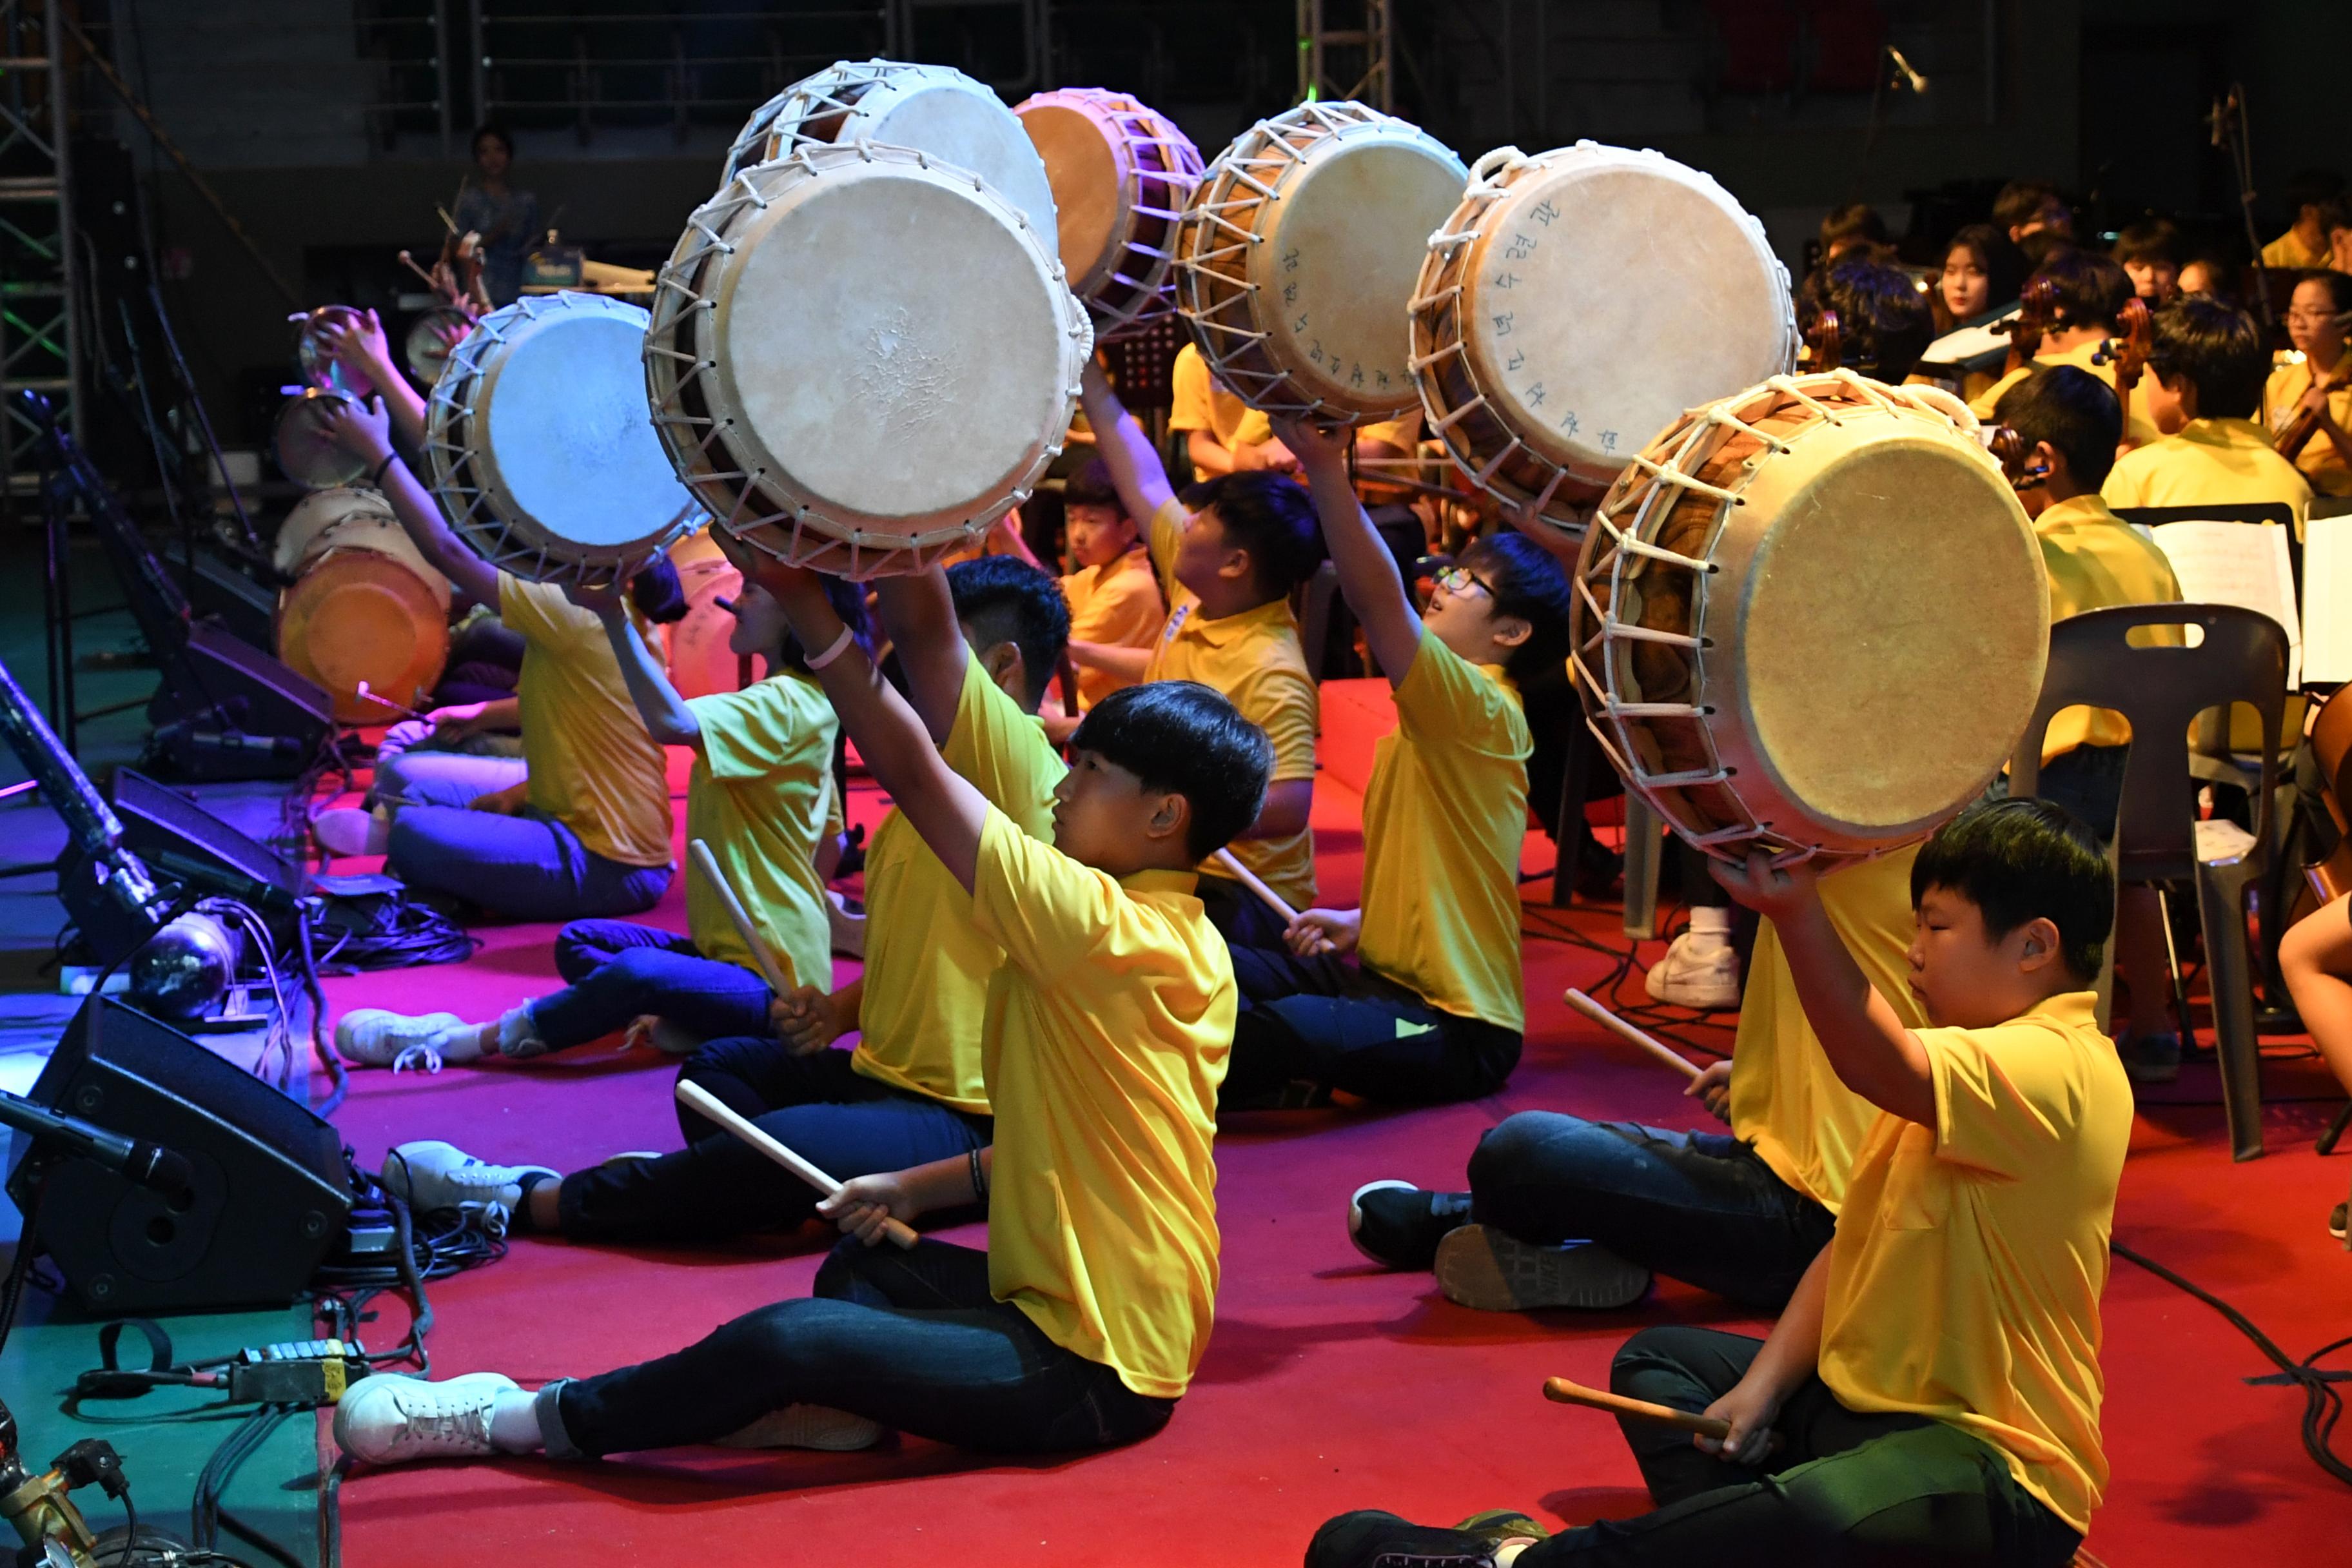
[[[1715, 1328], [1646, 1328], [1616, 1354], [1609, 1387], [1705, 1410], [1762, 1347]], [[1658, 1509], [1562, 1530], [1522, 1552], [1522, 1568], [2063, 1568], [2082, 1544], [1987, 1443], [1924, 1415], [1858, 1415], [1820, 1378], [1780, 1408], [1773, 1429], [1783, 1446], [1766, 1467], [1717, 1460], [1672, 1427], [1618, 1425]]]

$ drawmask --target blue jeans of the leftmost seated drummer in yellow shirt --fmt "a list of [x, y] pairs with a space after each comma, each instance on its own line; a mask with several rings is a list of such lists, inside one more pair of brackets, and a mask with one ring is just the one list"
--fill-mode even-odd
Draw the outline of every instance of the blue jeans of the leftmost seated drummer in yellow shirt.
[[[435, 762], [503, 764], [501, 757], [447, 752]], [[576, 832], [543, 811], [466, 811], [466, 802], [489, 795], [468, 778], [405, 776], [402, 788], [407, 799], [423, 804], [393, 816], [383, 870], [414, 889], [449, 893], [506, 919], [586, 919], [640, 914], [670, 886], [668, 865], [623, 865], [588, 853]]]

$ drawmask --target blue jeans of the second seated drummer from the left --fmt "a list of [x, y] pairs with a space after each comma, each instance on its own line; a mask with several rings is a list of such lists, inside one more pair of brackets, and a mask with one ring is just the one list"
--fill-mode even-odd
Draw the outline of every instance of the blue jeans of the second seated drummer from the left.
[[703, 1039], [767, 1034], [767, 980], [741, 964], [706, 959], [675, 931], [576, 919], [555, 933], [555, 973], [564, 990], [532, 1004], [532, 1027], [548, 1051], [586, 1046], [640, 1013]]

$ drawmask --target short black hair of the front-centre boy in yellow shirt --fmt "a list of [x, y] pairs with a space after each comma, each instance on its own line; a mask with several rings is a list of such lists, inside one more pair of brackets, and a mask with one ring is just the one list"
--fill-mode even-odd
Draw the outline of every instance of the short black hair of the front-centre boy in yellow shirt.
[[1122, 686], [1087, 710], [1073, 752], [1094, 752], [1192, 806], [1185, 853], [1204, 860], [1265, 809], [1275, 743], [1214, 686], [1145, 682]]

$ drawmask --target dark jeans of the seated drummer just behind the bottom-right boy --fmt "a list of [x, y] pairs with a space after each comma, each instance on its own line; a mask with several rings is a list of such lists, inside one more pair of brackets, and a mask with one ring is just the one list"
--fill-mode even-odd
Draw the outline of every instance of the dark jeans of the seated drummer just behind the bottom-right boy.
[[1745, 1307], [1778, 1312], [1837, 1220], [1729, 1133], [1668, 1133], [1548, 1110], [1470, 1154], [1470, 1215], [1519, 1241], [1597, 1241]]

